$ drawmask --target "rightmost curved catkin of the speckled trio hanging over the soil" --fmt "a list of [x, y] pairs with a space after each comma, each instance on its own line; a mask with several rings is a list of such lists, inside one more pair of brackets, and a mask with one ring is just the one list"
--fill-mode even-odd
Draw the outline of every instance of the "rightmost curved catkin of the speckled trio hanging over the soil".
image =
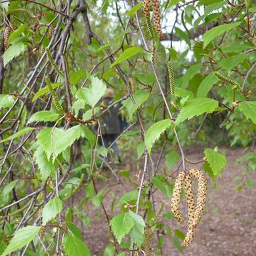
[[198, 169], [190, 169], [188, 173], [198, 179], [198, 199], [196, 202], [196, 209], [194, 211], [194, 218], [192, 222], [192, 226], [195, 228], [203, 215], [203, 209], [206, 200], [207, 181], [202, 171]]

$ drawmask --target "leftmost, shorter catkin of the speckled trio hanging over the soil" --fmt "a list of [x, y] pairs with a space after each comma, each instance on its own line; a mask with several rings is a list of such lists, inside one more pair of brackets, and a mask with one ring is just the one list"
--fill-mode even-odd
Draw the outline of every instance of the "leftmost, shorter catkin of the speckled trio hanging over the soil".
[[175, 218], [180, 222], [184, 221], [184, 218], [181, 216], [181, 213], [179, 211], [179, 204], [181, 201], [181, 188], [184, 182], [184, 178], [185, 172], [181, 171], [175, 181], [175, 185], [173, 188], [173, 196], [171, 198], [171, 211], [173, 212]]

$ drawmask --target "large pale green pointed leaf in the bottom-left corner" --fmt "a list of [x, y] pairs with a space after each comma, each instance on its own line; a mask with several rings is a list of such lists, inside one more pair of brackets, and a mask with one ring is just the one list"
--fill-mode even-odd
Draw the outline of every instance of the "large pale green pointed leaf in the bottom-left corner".
[[25, 226], [24, 228], [20, 228], [1, 256], [5, 256], [29, 244], [35, 238], [40, 228], [41, 226]]

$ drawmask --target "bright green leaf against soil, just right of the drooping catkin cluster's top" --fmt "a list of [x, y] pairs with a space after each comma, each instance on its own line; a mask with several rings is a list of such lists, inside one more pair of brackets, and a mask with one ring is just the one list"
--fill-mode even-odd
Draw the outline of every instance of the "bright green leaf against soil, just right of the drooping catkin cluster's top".
[[211, 166], [213, 170], [213, 175], [221, 176], [221, 169], [224, 169], [226, 166], [226, 156], [219, 154], [211, 148], [205, 148], [204, 152], [205, 158], [207, 158], [207, 163]]

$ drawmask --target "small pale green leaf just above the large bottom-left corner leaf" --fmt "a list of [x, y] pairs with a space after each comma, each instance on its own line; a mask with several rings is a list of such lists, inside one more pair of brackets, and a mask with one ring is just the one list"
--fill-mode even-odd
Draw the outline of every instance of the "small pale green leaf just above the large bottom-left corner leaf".
[[48, 221], [54, 219], [58, 213], [62, 211], [62, 200], [56, 197], [49, 201], [43, 208], [43, 225], [47, 224]]

